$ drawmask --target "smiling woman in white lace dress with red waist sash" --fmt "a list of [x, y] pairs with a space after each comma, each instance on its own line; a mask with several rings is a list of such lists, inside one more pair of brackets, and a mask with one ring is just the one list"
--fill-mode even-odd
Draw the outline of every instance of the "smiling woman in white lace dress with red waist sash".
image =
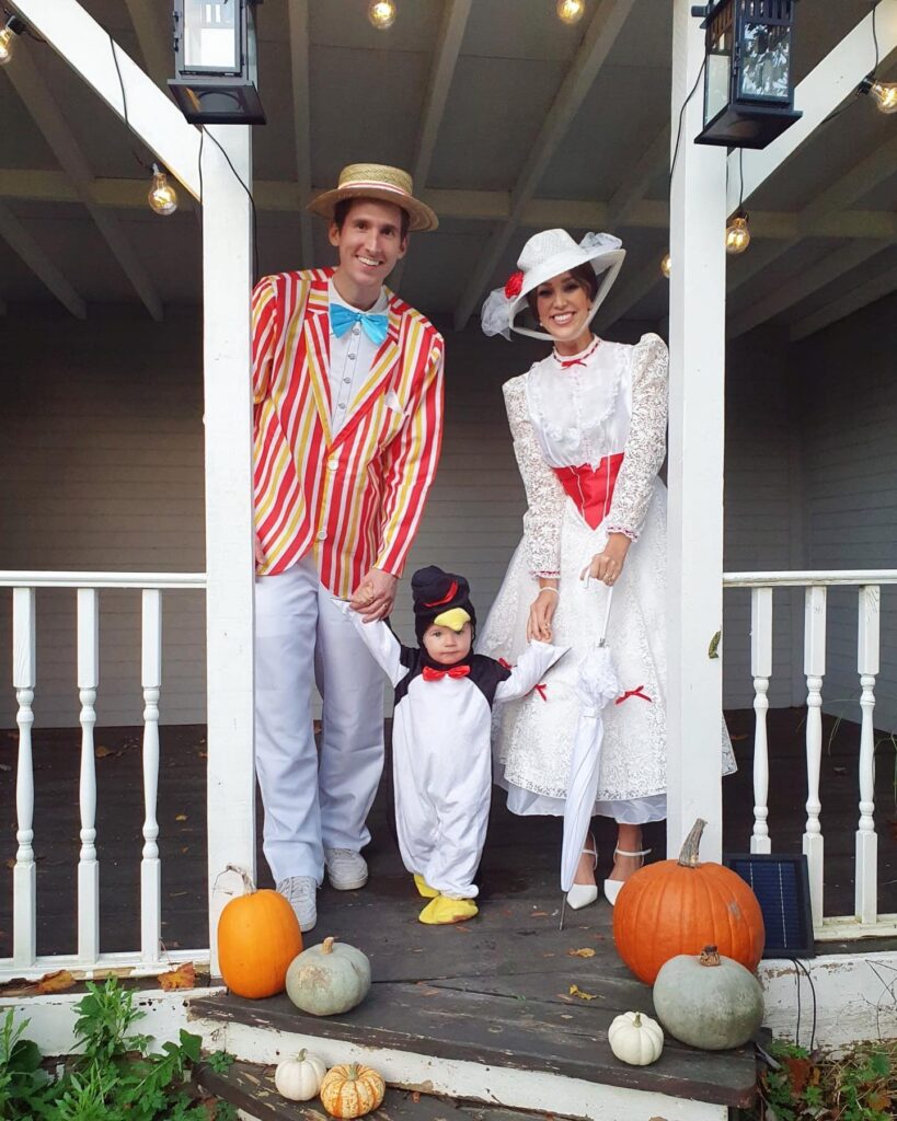
[[[503, 387], [528, 509], [478, 648], [509, 661], [530, 638], [572, 648], [544, 688], [497, 717], [497, 781], [514, 813], [563, 814], [576, 670], [614, 589], [608, 642], [622, 694], [603, 713], [594, 807], [618, 823], [604, 880], [611, 904], [647, 854], [641, 826], [666, 816], [666, 489], [657, 472], [666, 450], [667, 350], [654, 334], [626, 345], [598, 339], [590, 326], [623, 256], [608, 234], [586, 234], [579, 245], [563, 230], [536, 234], [520, 271], [490, 295], [482, 315], [487, 334], [517, 331], [554, 348]], [[527, 306], [537, 328], [516, 322]], [[597, 899], [597, 860], [590, 841], [571, 906]]]

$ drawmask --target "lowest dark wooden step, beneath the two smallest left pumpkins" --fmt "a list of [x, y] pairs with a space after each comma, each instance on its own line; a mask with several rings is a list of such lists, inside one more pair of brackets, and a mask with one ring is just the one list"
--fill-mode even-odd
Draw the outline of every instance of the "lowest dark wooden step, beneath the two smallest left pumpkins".
[[[202, 1064], [193, 1081], [216, 1097], [258, 1121], [324, 1121], [327, 1113], [321, 1099], [288, 1102], [274, 1084], [274, 1066], [234, 1063], [224, 1074]], [[500, 1105], [470, 1105], [452, 1097], [387, 1088], [380, 1109], [369, 1113], [371, 1121], [545, 1121], [544, 1113], [506, 1110]]]

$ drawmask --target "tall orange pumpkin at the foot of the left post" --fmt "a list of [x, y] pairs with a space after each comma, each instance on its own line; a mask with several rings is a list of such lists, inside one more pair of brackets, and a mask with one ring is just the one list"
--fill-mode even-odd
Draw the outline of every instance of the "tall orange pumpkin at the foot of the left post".
[[287, 967], [302, 953], [293, 908], [276, 891], [257, 891], [242, 870], [246, 895], [235, 896], [218, 921], [218, 961], [224, 983], [238, 997], [259, 1000], [286, 986]]

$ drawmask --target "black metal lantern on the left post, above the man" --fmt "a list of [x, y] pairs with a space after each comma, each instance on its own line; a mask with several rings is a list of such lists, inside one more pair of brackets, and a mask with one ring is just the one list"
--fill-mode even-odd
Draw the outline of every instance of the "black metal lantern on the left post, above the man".
[[265, 124], [252, 9], [261, 0], [174, 0], [172, 93], [195, 124]]

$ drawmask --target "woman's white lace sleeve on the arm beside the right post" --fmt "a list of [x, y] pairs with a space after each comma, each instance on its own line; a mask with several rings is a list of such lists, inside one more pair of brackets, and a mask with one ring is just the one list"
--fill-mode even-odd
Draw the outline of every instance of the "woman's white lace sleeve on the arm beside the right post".
[[634, 541], [666, 455], [667, 365], [666, 343], [642, 335], [632, 349], [632, 418], [608, 513], [608, 532], [626, 534]]

